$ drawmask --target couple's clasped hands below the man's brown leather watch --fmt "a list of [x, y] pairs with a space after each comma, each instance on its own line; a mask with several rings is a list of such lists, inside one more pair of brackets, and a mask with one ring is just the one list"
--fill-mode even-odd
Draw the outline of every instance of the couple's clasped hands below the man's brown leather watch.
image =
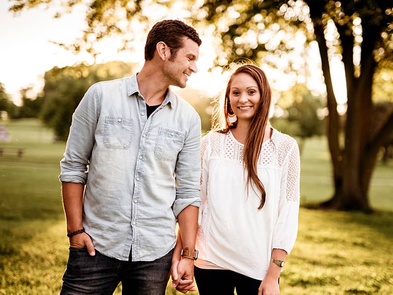
[[172, 258], [170, 269], [172, 275], [172, 287], [181, 293], [197, 291], [194, 282], [194, 261], [184, 258], [179, 260]]

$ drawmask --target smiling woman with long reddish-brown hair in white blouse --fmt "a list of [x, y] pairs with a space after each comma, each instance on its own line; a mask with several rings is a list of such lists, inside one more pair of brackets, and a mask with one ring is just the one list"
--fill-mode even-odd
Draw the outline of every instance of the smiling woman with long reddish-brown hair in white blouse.
[[[200, 295], [280, 294], [299, 212], [296, 141], [268, 124], [271, 89], [255, 65], [229, 79], [201, 144], [195, 279]], [[192, 289], [190, 289], [192, 290]]]

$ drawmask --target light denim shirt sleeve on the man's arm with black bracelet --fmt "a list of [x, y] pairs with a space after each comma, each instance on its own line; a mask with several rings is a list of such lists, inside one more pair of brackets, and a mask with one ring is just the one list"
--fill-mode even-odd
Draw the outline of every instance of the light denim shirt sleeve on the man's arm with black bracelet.
[[61, 182], [76, 182], [86, 184], [87, 166], [94, 145], [94, 132], [98, 118], [97, 85], [91, 86], [74, 114], [64, 158], [60, 161]]

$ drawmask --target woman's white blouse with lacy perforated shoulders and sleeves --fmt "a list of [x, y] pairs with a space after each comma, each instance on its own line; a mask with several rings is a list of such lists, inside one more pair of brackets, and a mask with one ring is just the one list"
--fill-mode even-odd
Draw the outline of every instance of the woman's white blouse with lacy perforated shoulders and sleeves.
[[[262, 144], [257, 173], [265, 191], [249, 187], [244, 145], [229, 131], [210, 132], [201, 143], [201, 177], [196, 248], [200, 268], [229, 269], [262, 280], [273, 249], [291, 251], [298, 230], [300, 156], [296, 141], [279, 131]], [[254, 185], [255, 187], [255, 185]], [[200, 260], [199, 260], [200, 259]]]

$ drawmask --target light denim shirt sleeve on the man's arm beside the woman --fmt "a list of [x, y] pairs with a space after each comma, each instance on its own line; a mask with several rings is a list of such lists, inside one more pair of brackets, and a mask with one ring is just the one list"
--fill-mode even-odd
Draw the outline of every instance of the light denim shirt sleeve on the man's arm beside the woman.
[[173, 214], [177, 218], [187, 206], [200, 207], [200, 118], [197, 114], [178, 154], [175, 175], [177, 185]]

